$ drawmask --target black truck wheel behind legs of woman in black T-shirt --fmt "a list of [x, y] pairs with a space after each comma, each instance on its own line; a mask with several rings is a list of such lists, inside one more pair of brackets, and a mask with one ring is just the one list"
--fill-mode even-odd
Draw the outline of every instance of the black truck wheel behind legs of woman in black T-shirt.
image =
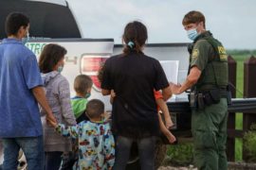
[[[161, 140], [157, 140], [155, 144], [155, 169], [157, 169], [165, 159], [167, 146], [162, 144]], [[140, 170], [137, 144], [133, 144], [131, 148], [130, 159], [126, 165], [126, 170]]]

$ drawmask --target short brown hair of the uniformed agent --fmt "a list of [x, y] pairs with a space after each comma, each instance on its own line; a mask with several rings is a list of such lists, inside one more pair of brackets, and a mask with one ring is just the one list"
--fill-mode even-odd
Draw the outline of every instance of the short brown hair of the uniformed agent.
[[204, 14], [200, 11], [192, 10], [184, 16], [182, 25], [187, 26], [189, 24], [198, 24], [200, 22], [203, 22], [204, 28], [206, 28], [206, 19]]

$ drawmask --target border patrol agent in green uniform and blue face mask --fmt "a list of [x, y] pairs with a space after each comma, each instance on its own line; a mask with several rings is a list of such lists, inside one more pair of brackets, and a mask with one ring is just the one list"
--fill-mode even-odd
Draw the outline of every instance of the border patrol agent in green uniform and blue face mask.
[[191, 89], [194, 162], [198, 169], [226, 170], [228, 121], [228, 58], [221, 42], [205, 30], [205, 17], [190, 11], [182, 24], [193, 41], [190, 69], [182, 85], [171, 83], [173, 93]]

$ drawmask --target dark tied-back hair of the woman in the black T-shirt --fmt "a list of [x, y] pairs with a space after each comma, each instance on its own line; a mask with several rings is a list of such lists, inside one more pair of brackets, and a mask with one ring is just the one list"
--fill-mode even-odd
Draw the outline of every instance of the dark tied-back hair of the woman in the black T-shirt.
[[[137, 53], [141, 52], [143, 45], [148, 39], [147, 27], [138, 21], [128, 23], [122, 35], [122, 41], [125, 42], [123, 53], [128, 54], [131, 50], [136, 50]], [[128, 43], [133, 42], [133, 46]]]

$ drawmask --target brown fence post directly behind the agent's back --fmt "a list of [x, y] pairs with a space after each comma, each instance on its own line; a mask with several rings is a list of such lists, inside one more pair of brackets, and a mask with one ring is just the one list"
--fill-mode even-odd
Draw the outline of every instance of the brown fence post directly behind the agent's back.
[[[236, 92], [236, 61], [229, 56], [228, 57], [229, 62], [229, 84], [230, 91], [232, 98], [235, 98], [235, 92]], [[228, 129], [235, 129], [235, 112], [229, 112], [229, 119], [228, 119]], [[229, 130], [228, 130], [229, 132]], [[234, 155], [235, 155], [235, 139], [233, 137], [229, 137], [227, 139], [227, 157], [229, 161], [234, 161]]]

